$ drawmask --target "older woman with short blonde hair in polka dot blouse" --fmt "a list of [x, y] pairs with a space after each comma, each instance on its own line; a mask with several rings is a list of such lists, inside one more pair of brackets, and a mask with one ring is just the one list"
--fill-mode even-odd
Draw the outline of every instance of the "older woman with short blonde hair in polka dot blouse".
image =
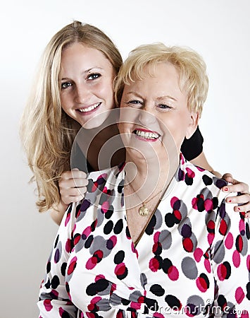
[[207, 90], [191, 49], [130, 54], [115, 87], [125, 163], [90, 173], [65, 213], [40, 317], [249, 317], [249, 221], [180, 152]]

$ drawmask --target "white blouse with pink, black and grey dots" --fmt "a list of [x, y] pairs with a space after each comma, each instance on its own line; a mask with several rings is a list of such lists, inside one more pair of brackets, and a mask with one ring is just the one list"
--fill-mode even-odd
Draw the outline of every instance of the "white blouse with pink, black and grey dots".
[[181, 157], [135, 246], [123, 168], [90, 173], [65, 212], [39, 317], [249, 317], [249, 221], [225, 202], [225, 181]]

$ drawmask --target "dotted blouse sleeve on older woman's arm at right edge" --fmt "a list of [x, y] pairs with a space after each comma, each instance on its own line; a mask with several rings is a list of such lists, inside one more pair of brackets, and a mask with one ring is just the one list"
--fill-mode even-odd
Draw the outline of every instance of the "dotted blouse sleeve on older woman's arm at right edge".
[[221, 308], [220, 317], [224, 314], [225, 317], [244, 317], [244, 310], [246, 317], [249, 314], [248, 228], [249, 220], [234, 213], [233, 206], [223, 200], [215, 217], [215, 237], [211, 245], [211, 265], [218, 288], [213, 310], [225, 306]]

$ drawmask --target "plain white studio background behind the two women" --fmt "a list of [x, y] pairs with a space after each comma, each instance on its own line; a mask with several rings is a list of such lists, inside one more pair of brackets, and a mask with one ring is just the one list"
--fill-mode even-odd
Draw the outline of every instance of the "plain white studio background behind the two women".
[[0, 318], [34, 318], [57, 226], [35, 207], [18, 125], [46, 43], [77, 19], [101, 28], [123, 58], [156, 41], [196, 49], [210, 78], [200, 121], [204, 151], [216, 170], [250, 184], [250, 2], [6, 0], [0, 6]]

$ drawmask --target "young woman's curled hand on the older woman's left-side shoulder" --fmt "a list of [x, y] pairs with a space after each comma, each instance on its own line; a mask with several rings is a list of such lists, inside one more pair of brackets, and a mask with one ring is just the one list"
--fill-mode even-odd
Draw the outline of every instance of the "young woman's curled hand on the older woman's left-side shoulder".
[[70, 204], [71, 202], [80, 201], [85, 197], [88, 179], [85, 172], [75, 168], [71, 171], [63, 172], [58, 184], [61, 201], [64, 204]]

